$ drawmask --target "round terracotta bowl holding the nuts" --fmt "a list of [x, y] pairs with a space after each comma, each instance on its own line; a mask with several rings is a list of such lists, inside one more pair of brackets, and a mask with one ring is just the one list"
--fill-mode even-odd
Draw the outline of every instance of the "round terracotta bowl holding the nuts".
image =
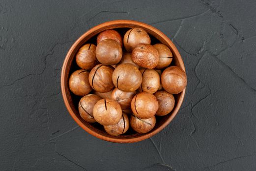
[[97, 123], [93, 123], [93, 124], [87, 123], [81, 118], [78, 112], [78, 102], [81, 97], [78, 97], [72, 94], [68, 87], [68, 79], [70, 74], [73, 71], [79, 69], [79, 67], [75, 62], [75, 55], [77, 51], [85, 43], [96, 44], [97, 35], [104, 30], [115, 29], [118, 32], [120, 32], [123, 36], [124, 33], [132, 27], [143, 28], [151, 37], [151, 44], [154, 44], [154, 43], [166, 44], [173, 53], [173, 61], [171, 65], [179, 66], [185, 71], [183, 61], [181, 59], [181, 56], [177, 48], [165, 34], [163, 34], [161, 31], [159, 31], [158, 29], [156, 29], [151, 25], [138, 22], [138, 21], [129, 21], [129, 20], [117, 20], [117, 21], [104, 22], [88, 30], [69, 49], [62, 66], [62, 71], [61, 71], [61, 91], [62, 91], [62, 96], [63, 96], [65, 106], [67, 107], [69, 114], [78, 123], [80, 127], [85, 129], [85, 131], [87, 131], [91, 135], [97, 138], [100, 138], [106, 141], [115, 142], [115, 143], [133, 143], [133, 142], [142, 141], [161, 131], [175, 117], [175, 115], [177, 114], [182, 104], [182, 101], [185, 95], [185, 89], [181, 93], [174, 95], [176, 102], [175, 102], [175, 107], [171, 111], [171, 113], [163, 117], [156, 116], [157, 122], [155, 127], [150, 132], [147, 132], [144, 134], [136, 133], [131, 128], [129, 128], [129, 130], [123, 135], [111, 136], [107, 132], [105, 132], [103, 126], [100, 126]]

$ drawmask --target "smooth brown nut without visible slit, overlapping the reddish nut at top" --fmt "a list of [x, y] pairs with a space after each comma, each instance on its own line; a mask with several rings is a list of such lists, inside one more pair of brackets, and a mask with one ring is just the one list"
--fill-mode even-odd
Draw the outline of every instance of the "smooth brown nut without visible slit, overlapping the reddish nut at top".
[[112, 39], [105, 39], [96, 46], [96, 58], [101, 64], [117, 64], [122, 58], [122, 47]]

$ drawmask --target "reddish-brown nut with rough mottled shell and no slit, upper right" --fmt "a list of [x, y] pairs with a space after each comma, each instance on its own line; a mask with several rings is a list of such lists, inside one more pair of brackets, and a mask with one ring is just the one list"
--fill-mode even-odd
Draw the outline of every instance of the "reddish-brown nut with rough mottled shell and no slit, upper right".
[[153, 69], [159, 61], [159, 54], [151, 44], [138, 44], [132, 52], [132, 60], [139, 66]]

